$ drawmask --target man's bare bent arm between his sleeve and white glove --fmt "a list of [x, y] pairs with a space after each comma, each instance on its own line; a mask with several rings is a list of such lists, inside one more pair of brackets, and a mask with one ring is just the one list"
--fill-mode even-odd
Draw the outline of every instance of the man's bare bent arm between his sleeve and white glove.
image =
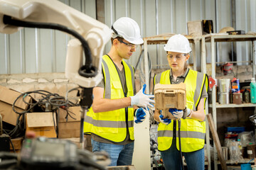
[[105, 112], [105, 111], [114, 111], [119, 108], [126, 108], [131, 106], [131, 98], [117, 98], [117, 99], [109, 99], [103, 98], [104, 89], [102, 87], [93, 88], [92, 94], [94, 96], [92, 102], [92, 110], [95, 113]]

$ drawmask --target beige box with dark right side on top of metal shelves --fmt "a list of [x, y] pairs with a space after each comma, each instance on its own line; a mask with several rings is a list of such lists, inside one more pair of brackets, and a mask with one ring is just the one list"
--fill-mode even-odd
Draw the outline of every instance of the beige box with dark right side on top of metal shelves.
[[213, 33], [212, 20], [188, 21], [188, 35], [205, 35]]

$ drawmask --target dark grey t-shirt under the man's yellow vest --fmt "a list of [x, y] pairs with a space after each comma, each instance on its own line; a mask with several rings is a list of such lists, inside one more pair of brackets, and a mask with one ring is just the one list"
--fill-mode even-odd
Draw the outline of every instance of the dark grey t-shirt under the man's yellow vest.
[[[115, 64], [114, 64], [115, 65]], [[119, 70], [119, 68], [115, 65], [116, 69], [117, 69], [117, 73], [119, 75], [121, 84], [122, 84], [122, 89], [124, 89], [124, 93], [127, 94], [127, 84], [126, 84], [126, 79], [125, 79], [125, 74], [124, 74], [124, 67], [122, 68], [122, 70]], [[133, 79], [133, 78], [132, 78]], [[105, 81], [104, 79], [102, 79], [102, 81], [100, 81], [100, 84], [97, 85], [97, 87], [102, 87], [105, 88]], [[135, 84], [134, 84], [135, 87]], [[134, 94], [136, 94], [136, 89], [134, 88]], [[127, 145], [128, 143], [133, 142], [133, 140], [130, 140], [129, 138], [129, 132], [127, 130], [127, 137], [125, 138], [125, 140], [123, 142], [112, 142], [110, 140], [107, 140], [105, 138], [102, 138], [98, 135], [92, 134], [92, 139], [97, 141], [97, 142], [103, 142], [103, 143], [108, 143], [108, 144], [118, 144], [118, 145]]]

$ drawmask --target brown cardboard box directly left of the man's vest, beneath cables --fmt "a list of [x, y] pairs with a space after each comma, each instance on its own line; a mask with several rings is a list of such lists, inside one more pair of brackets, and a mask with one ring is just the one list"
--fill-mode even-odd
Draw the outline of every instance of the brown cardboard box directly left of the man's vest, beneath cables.
[[80, 137], [80, 106], [68, 108], [69, 114], [75, 118], [71, 118], [67, 111], [60, 108], [59, 123], [58, 123], [58, 138]]

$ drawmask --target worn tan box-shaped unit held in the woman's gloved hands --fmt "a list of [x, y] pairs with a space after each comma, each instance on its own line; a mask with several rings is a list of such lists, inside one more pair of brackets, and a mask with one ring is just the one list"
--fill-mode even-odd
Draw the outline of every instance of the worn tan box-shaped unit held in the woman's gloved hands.
[[156, 84], [154, 87], [156, 109], [169, 113], [169, 108], [186, 108], [186, 84]]

